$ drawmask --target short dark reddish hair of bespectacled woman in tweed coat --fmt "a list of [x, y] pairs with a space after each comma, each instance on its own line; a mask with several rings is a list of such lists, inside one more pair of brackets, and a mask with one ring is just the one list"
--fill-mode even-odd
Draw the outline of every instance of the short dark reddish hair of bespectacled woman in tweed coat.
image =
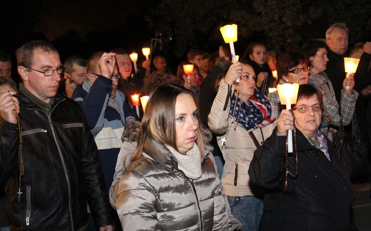
[[277, 75], [278, 79], [287, 76], [288, 71], [299, 64], [308, 65], [308, 59], [300, 52], [282, 52], [277, 58]]

